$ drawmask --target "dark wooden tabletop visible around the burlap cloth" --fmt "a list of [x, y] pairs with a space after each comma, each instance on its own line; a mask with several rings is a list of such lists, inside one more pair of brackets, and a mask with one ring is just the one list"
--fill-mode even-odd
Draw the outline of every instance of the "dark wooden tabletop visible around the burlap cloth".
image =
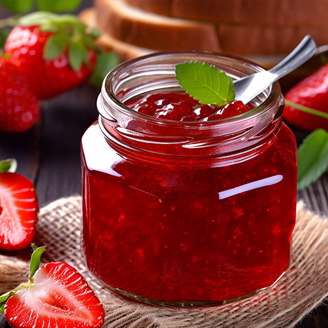
[[[91, 3], [91, 0], [85, 0], [82, 7]], [[0, 17], [4, 15], [0, 9]], [[18, 173], [36, 186], [40, 207], [60, 197], [81, 194], [80, 139], [97, 119], [95, 104], [98, 93], [96, 88], [82, 85], [44, 102], [41, 120], [30, 131], [0, 133], [0, 159], [17, 159]], [[328, 175], [300, 192], [299, 198], [304, 199], [310, 209], [328, 215]], [[7, 327], [5, 320], [0, 316], [0, 328], [4, 327]], [[314, 309], [296, 327], [327, 328], [328, 301]]]

